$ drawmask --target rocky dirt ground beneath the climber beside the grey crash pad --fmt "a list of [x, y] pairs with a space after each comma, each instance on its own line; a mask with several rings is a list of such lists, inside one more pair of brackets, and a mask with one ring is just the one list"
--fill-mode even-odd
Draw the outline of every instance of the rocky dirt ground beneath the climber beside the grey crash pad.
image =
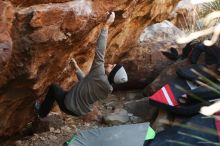
[[[136, 92], [136, 91], [135, 91]], [[106, 100], [96, 103], [101, 115], [108, 115], [115, 109], [123, 107], [123, 104], [132, 98], [136, 98], [137, 92], [126, 94], [113, 94]], [[133, 96], [133, 97], [132, 97]], [[2, 146], [62, 146], [63, 143], [80, 130], [111, 126], [102, 118], [88, 120], [69, 116], [63, 113], [51, 112], [44, 119], [38, 119], [27, 125], [18, 135], [9, 138]]]

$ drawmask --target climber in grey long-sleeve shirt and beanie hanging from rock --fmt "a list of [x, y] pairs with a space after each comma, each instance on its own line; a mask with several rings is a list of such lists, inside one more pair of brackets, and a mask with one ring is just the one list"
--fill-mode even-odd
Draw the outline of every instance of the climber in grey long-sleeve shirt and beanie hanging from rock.
[[85, 115], [92, 109], [92, 104], [105, 99], [113, 90], [113, 84], [128, 81], [127, 73], [119, 64], [104, 66], [105, 49], [108, 36], [108, 28], [114, 22], [115, 13], [112, 12], [98, 38], [95, 58], [87, 76], [80, 70], [75, 59], [70, 61], [75, 68], [79, 82], [70, 91], [66, 92], [57, 85], [51, 85], [46, 98], [41, 104], [35, 103], [35, 109], [40, 117], [45, 117], [50, 112], [54, 101], [57, 101], [60, 109], [73, 116]]

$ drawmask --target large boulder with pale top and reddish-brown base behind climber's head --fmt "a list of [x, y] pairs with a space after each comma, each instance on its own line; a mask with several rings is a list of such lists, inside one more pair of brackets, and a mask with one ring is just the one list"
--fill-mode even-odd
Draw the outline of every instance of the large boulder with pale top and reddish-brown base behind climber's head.
[[184, 45], [176, 43], [176, 38], [181, 35], [184, 33], [166, 20], [146, 27], [138, 44], [121, 57], [121, 63], [128, 68], [129, 81], [125, 87], [143, 87], [151, 83], [161, 70], [173, 64], [161, 51], [169, 51], [173, 47], [181, 52]]

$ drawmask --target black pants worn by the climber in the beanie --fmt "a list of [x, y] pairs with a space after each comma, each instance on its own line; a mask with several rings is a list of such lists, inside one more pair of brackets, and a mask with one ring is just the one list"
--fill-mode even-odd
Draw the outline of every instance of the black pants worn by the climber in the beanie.
[[65, 112], [66, 114], [76, 116], [74, 113], [70, 112], [65, 107], [64, 99], [65, 99], [66, 94], [67, 94], [67, 92], [64, 91], [58, 85], [51, 85], [48, 89], [45, 100], [43, 101], [43, 103], [40, 106], [40, 109], [38, 112], [39, 116], [42, 118], [46, 117], [48, 115], [48, 113], [51, 111], [55, 101], [58, 103], [60, 109], [63, 112]]

